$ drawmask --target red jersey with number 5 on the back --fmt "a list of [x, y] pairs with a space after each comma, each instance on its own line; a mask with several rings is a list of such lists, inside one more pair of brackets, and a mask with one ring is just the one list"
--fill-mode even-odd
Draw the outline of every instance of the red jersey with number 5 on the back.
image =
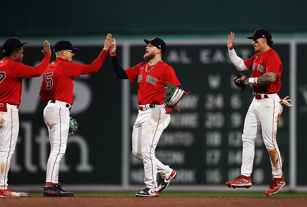
[[81, 75], [83, 65], [76, 62], [66, 62], [57, 57], [51, 62], [43, 74], [41, 90], [46, 91], [49, 100], [57, 100], [73, 105], [75, 77]]

